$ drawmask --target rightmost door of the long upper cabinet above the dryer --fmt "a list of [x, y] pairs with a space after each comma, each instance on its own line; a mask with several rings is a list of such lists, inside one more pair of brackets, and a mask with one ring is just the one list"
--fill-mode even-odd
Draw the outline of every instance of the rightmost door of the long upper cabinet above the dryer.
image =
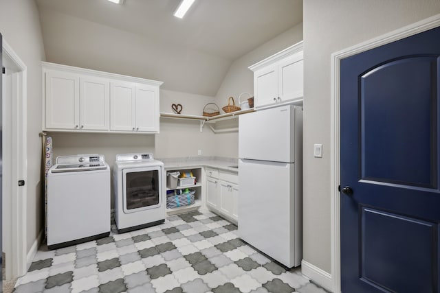
[[135, 102], [136, 131], [159, 132], [159, 88], [137, 85]]

